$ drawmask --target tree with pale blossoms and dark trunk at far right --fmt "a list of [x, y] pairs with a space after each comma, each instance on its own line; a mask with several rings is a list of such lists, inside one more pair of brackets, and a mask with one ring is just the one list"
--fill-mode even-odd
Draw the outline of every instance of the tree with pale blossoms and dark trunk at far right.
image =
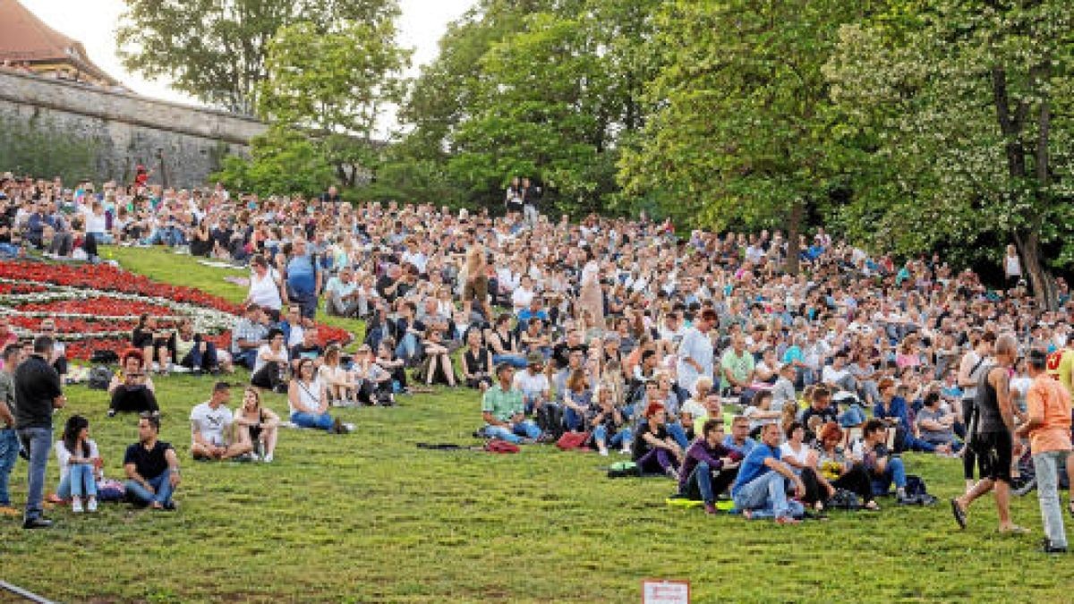
[[966, 260], [1012, 242], [1055, 304], [1048, 261], [1074, 253], [1072, 23], [1061, 0], [929, 0], [844, 28], [826, 73], [841, 136], [872, 152], [857, 178], [875, 186], [843, 222], [877, 246]]

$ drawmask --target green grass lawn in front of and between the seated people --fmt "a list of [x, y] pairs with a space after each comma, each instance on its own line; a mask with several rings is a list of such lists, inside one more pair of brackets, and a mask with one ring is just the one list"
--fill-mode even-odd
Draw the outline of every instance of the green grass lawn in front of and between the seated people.
[[[244, 294], [222, 282], [237, 271], [161, 251], [113, 254], [157, 278]], [[0, 518], [0, 578], [63, 602], [637, 602], [643, 577], [688, 579], [695, 602], [1062, 602], [1074, 587], [1070, 558], [1034, 551], [1032, 495], [1014, 505], [1033, 530], [1025, 537], [995, 533], [990, 501], [973, 508], [966, 532], [944, 501], [886, 501], [880, 514], [780, 528], [668, 508], [670, 481], [608, 479], [596, 455], [416, 448], [473, 443], [478, 398], [466, 391], [343, 411], [358, 426], [346, 436], [285, 430], [273, 464], [194, 463], [186, 417], [211, 379], [158, 380], [163, 438], [184, 461], [177, 513], [56, 509], [57, 527], [34, 532]], [[134, 419], [105, 418], [103, 392], [69, 396], [57, 426], [86, 415], [118, 476]], [[267, 401], [286, 411], [282, 396]], [[908, 460], [941, 499], [960, 489], [957, 460]], [[48, 472], [53, 489], [55, 458]], [[25, 463], [13, 483], [24, 501]]]

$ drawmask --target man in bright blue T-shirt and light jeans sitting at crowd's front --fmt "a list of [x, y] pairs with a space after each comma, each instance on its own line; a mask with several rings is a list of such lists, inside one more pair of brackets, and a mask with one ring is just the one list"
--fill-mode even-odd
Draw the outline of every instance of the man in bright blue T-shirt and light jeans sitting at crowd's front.
[[780, 427], [769, 423], [760, 430], [760, 442], [742, 461], [731, 499], [748, 519], [775, 518], [780, 524], [797, 524], [804, 514], [802, 504], [787, 499], [787, 483], [795, 494], [806, 494], [806, 485], [789, 465], [780, 460]]

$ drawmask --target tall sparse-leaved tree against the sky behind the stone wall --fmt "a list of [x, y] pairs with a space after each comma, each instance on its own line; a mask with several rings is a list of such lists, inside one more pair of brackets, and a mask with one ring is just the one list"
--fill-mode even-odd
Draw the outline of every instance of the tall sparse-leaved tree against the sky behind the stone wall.
[[124, 66], [166, 76], [176, 90], [252, 114], [276, 31], [296, 21], [324, 31], [340, 19], [380, 23], [395, 0], [126, 0], [117, 45]]

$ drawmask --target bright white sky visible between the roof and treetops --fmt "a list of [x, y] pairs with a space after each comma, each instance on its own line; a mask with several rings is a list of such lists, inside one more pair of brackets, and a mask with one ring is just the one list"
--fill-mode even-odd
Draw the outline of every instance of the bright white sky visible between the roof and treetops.
[[[20, 0], [39, 18], [86, 46], [89, 57], [128, 88], [159, 99], [198, 104], [168, 87], [168, 82], [147, 81], [128, 73], [116, 56], [115, 31], [124, 11], [122, 0]], [[437, 42], [449, 21], [462, 16], [474, 0], [400, 0], [403, 16], [400, 38], [415, 49], [412, 73], [436, 57]]]

